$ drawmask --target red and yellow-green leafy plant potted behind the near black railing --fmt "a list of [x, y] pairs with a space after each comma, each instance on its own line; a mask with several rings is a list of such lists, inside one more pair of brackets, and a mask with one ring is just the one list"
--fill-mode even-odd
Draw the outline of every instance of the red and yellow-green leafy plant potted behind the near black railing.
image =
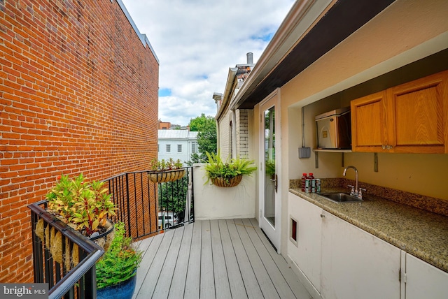
[[106, 226], [108, 217], [116, 216], [117, 207], [104, 182], [86, 182], [83, 174], [73, 180], [68, 175], [48, 192], [48, 211], [87, 237]]

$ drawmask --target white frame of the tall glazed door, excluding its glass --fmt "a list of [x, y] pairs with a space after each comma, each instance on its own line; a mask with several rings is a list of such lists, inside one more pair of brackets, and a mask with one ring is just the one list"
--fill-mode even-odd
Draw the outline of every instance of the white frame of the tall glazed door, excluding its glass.
[[[277, 175], [277, 191], [275, 193], [275, 227], [269, 224], [264, 218], [265, 210], [265, 110], [263, 105], [272, 101], [275, 106], [275, 173]], [[277, 88], [263, 99], [260, 104], [260, 128], [258, 129], [260, 168], [258, 175], [258, 226], [265, 232], [267, 238], [276, 247], [277, 253], [281, 252], [281, 109], [280, 109], [280, 88]], [[271, 106], [272, 107], [272, 106]]]

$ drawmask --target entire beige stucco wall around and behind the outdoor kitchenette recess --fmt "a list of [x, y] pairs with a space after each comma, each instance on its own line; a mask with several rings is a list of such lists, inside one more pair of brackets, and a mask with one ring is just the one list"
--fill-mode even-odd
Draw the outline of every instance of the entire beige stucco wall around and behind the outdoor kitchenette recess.
[[[298, 159], [298, 147], [302, 146], [300, 108], [306, 106], [305, 145], [316, 147], [314, 116], [349, 105], [343, 99], [317, 101], [448, 48], [447, 15], [448, 1], [398, 0], [281, 87], [282, 177], [297, 179], [302, 172], [342, 177], [340, 153], [319, 153], [317, 169], [314, 152], [309, 159]], [[447, 154], [379, 154], [378, 173], [373, 171], [372, 153], [344, 154], [344, 160], [346, 166], [358, 168], [360, 181], [448, 200]], [[354, 178], [352, 173], [347, 176]], [[281, 228], [286, 232], [288, 180], [281, 184]], [[282, 233], [282, 254], [286, 254], [287, 237]]]

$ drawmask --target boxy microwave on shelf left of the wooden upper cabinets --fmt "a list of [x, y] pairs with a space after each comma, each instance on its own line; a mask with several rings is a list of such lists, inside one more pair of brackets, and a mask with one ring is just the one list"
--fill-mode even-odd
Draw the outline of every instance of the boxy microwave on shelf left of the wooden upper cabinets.
[[318, 149], [351, 149], [350, 107], [316, 115]]

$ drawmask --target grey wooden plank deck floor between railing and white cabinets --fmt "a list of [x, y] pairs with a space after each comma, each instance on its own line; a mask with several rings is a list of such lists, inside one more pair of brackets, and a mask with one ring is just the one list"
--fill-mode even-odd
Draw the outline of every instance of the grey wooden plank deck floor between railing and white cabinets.
[[255, 219], [196, 221], [139, 247], [134, 298], [311, 298]]

